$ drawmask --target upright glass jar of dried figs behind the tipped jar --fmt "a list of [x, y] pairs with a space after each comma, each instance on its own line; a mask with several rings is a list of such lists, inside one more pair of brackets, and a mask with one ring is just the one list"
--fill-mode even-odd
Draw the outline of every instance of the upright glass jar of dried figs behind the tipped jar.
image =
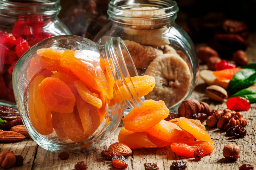
[[104, 44], [121, 37], [138, 74], [156, 79], [145, 99], [163, 100], [170, 111], [190, 97], [198, 77], [198, 56], [188, 34], [175, 19], [179, 8], [171, 0], [111, 0], [111, 23], [94, 38]]

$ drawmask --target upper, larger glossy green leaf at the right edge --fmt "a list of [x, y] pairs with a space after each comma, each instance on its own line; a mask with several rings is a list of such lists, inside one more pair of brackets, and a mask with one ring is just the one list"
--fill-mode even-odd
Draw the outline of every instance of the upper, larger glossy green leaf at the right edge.
[[238, 71], [228, 83], [227, 92], [235, 92], [252, 86], [256, 83], [256, 69], [242, 69]]

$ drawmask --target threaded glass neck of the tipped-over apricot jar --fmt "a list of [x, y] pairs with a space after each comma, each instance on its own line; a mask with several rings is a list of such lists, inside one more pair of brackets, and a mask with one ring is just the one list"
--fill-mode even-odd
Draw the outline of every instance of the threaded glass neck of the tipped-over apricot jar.
[[129, 108], [140, 107], [144, 97], [138, 95], [131, 79], [138, 73], [123, 40], [120, 37], [110, 38], [103, 45], [102, 53], [107, 71], [115, 81], [112, 82], [114, 93], [118, 98], [125, 99], [123, 101]]

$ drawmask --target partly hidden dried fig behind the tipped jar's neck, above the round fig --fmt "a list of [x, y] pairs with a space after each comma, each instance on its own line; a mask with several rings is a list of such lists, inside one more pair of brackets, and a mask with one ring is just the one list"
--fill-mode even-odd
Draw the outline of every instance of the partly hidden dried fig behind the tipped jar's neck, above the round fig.
[[130, 52], [137, 69], [147, 68], [153, 59], [163, 54], [163, 51], [151, 46], [141, 45], [140, 43], [129, 40], [124, 40], [123, 42]]

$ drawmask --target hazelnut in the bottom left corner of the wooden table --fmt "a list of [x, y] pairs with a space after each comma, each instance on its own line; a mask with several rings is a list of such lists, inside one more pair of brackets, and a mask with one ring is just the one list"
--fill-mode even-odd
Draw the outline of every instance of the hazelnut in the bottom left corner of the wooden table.
[[14, 165], [16, 162], [16, 157], [13, 152], [3, 151], [0, 154], [0, 165], [2, 168], [7, 169]]

